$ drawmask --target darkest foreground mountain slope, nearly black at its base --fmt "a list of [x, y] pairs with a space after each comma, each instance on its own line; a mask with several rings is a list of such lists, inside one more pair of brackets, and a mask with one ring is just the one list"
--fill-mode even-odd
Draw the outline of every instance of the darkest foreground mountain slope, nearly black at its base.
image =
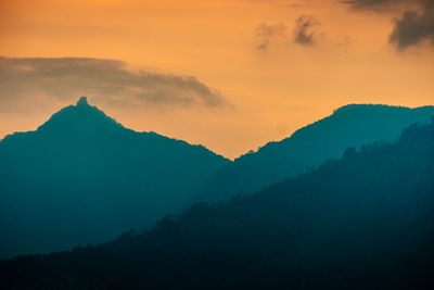
[[3, 289], [434, 289], [434, 118], [143, 234], [0, 262]]

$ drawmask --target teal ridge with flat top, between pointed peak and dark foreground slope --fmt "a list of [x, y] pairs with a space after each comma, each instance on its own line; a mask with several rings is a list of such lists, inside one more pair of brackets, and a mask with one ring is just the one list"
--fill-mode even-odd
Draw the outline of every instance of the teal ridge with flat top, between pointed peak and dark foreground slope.
[[412, 123], [427, 124], [434, 106], [409, 109], [380, 104], [349, 104], [332, 115], [295, 131], [279, 142], [269, 142], [255, 153], [228, 163], [193, 201], [219, 200], [258, 190], [294, 177], [339, 157], [349, 147], [374, 141], [395, 141]]

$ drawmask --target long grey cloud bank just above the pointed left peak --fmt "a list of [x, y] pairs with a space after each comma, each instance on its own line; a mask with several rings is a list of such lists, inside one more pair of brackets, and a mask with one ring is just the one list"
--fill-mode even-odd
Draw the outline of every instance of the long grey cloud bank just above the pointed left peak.
[[116, 60], [0, 56], [0, 108], [42, 94], [61, 101], [92, 96], [115, 104], [216, 108], [221, 93], [193, 76], [130, 71]]

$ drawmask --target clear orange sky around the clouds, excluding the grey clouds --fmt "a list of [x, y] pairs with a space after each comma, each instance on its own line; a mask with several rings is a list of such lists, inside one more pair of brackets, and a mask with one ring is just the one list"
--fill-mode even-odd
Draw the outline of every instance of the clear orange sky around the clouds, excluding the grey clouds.
[[[434, 104], [433, 46], [398, 51], [388, 43], [391, 20], [406, 9], [356, 11], [334, 0], [0, 0], [0, 55], [114, 59], [131, 71], [194, 76], [225, 104], [119, 105], [79, 92], [127, 127], [235, 157], [347, 103]], [[301, 15], [315, 18], [312, 45], [294, 42]], [[285, 28], [266, 39], [257, 35], [261, 23]], [[1, 93], [0, 137], [35, 129], [79, 97]]]

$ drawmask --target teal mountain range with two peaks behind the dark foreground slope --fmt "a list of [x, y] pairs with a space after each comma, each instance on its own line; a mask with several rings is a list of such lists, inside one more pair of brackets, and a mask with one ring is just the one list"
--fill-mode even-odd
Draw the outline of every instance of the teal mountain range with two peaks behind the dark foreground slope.
[[348, 147], [393, 141], [433, 106], [353, 104], [231, 162], [202, 146], [138, 133], [80, 98], [37, 130], [0, 141], [0, 259], [112, 240], [191, 203], [294, 177]]

